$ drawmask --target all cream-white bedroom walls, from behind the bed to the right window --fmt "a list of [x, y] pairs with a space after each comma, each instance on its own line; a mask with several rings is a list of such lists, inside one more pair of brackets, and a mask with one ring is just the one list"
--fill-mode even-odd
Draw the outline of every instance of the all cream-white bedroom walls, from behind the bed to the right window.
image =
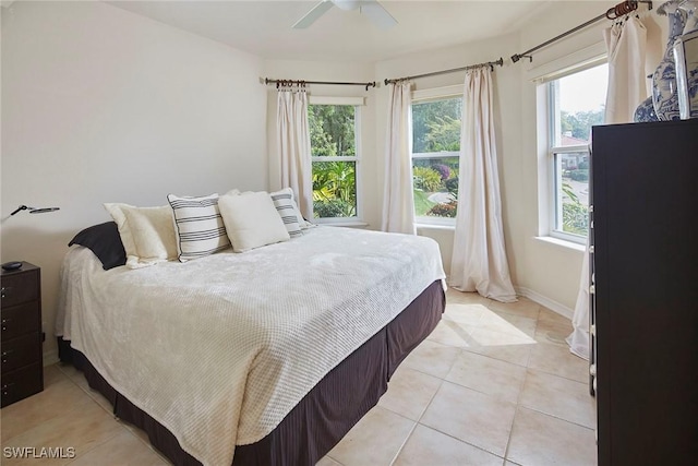
[[[43, 267], [47, 359], [52, 351], [58, 274], [67, 243], [109, 219], [104, 202], [163, 205], [169, 192], [276, 189], [276, 98], [258, 77], [378, 81], [503, 57], [494, 73], [504, 231], [514, 284], [571, 314], [582, 252], [537, 239], [540, 154], [530, 70], [601, 40], [602, 21], [534, 55], [509, 57], [597, 16], [615, 2], [547, 2], [520, 33], [412, 53], [380, 63], [262, 60], [101, 2], [15, 2], [2, 9], [1, 261]], [[650, 23], [653, 69], [666, 26]], [[659, 25], [658, 25], [659, 24]], [[461, 84], [462, 73], [416, 81]], [[387, 89], [312, 86], [324, 96], [364, 96], [364, 219], [380, 228]], [[268, 144], [268, 145], [267, 145]], [[20, 204], [57, 213], [9, 217]], [[436, 239], [446, 270], [453, 232]]]

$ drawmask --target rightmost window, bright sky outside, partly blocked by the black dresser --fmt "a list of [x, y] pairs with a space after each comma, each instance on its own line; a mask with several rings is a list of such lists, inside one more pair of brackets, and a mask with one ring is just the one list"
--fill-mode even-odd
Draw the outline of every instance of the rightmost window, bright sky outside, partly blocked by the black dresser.
[[552, 237], [586, 242], [591, 127], [603, 124], [606, 63], [547, 82]]

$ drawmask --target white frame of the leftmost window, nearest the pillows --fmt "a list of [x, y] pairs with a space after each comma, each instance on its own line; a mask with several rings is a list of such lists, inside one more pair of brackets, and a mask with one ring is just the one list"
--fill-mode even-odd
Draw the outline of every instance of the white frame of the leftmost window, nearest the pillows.
[[[313, 164], [317, 162], [353, 162], [354, 163], [354, 183], [357, 191], [357, 208], [351, 217], [315, 217], [313, 208], [314, 224], [323, 225], [356, 225], [362, 223], [363, 218], [363, 182], [361, 176], [361, 107], [365, 105], [364, 97], [329, 97], [329, 96], [309, 96], [309, 111], [311, 105], [333, 105], [333, 106], [350, 106], [354, 108], [353, 113], [353, 138], [356, 155], [338, 155], [338, 156], [311, 156], [310, 182], [313, 181]], [[312, 147], [311, 147], [312, 151]]]

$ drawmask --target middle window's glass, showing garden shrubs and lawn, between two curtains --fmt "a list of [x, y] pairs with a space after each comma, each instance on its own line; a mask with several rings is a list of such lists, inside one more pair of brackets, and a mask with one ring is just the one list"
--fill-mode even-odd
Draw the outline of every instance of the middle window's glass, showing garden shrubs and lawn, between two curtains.
[[419, 223], [455, 224], [461, 108], [461, 96], [412, 103], [412, 177]]

